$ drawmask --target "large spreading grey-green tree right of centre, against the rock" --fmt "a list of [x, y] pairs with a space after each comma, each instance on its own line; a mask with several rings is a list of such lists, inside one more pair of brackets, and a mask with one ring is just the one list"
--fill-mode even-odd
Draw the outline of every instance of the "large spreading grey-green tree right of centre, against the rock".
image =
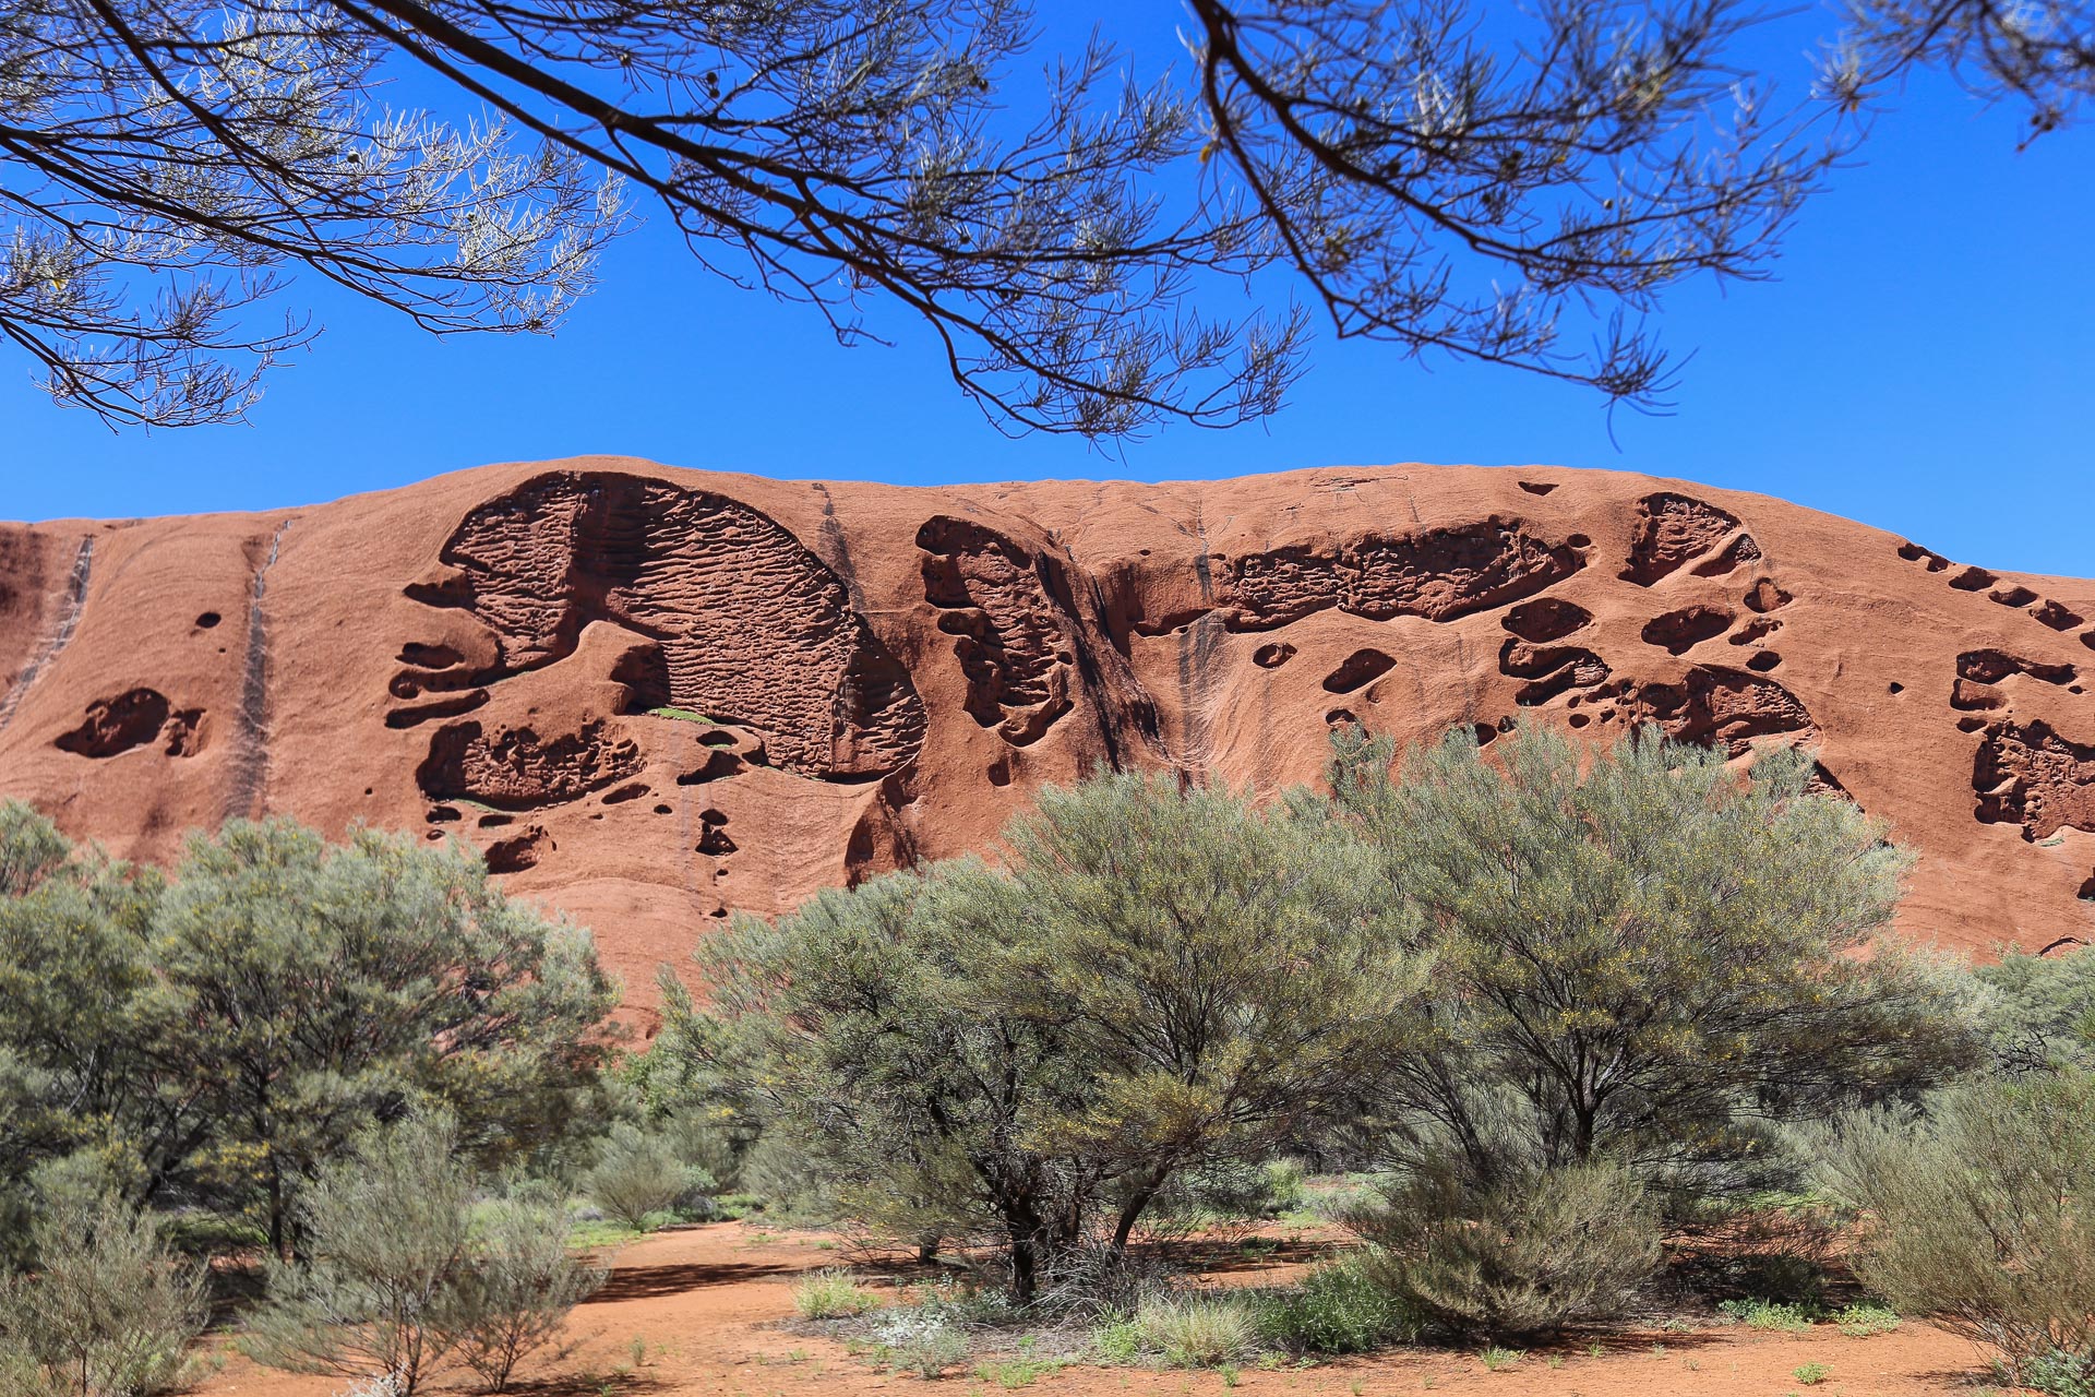
[[1429, 1051], [1385, 1079], [1397, 1162], [1498, 1188], [1611, 1158], [1659, 1183], [1751, 1160], [1756, 1125], [1967, 1064], [1955, 995], [1879, 940], [1906, 857], [1804, 752], [1542, 727], [1404, 756], [1353, 731], [1337, 808], [1437, 951]]

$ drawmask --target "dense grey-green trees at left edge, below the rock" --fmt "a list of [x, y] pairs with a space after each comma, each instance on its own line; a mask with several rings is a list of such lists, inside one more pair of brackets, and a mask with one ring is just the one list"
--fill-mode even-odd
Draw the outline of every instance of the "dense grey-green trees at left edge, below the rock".
[[589, 932], [471, 850], [230, 821], [161, 875], [15, 811], [0, 869], [0, 1208], [86, 1150], [128, 1198], [291, 1255], [306, 1185], [373, 1121], [436, 1106], [476, 1162], [547, 1167], [612, 1112]]

